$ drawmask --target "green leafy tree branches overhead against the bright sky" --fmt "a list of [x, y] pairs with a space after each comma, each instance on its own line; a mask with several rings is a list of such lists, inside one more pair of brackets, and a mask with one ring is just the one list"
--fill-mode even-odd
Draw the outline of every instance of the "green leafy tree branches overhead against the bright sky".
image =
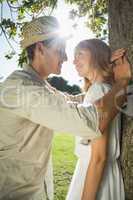
[[[70, 12], [71, 19], [87, 15], [86, 25], [96, 36], [107, 35], [107, 0], [65, 0], [65, 2], [77, 5], [77, 9]], [[0, 36], [4, 35], [11, 48], [6, 58], [10, 59], [16, 53], [12, 41], [18, 43], [22, 25], [37, 16], [51, 15], [57, 3], [58, 0], [0, 0]], [[19, 54], [19, 65], [24, 61], [25, 53], [22, 52]]]

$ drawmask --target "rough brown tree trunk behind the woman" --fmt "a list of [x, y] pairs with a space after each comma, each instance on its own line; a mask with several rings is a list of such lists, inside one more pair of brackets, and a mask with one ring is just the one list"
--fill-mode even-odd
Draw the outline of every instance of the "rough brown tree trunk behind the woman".
[[[133, 0], [108, 0], [108, 12], [110, 45], [112, 49], [128, 48], [133, 64]], [[133, 110], [133, 99], [129, 109]], [[121, 166], [126, 200], [133, 200], [133, 117], [123, 114], [123, 119]]]

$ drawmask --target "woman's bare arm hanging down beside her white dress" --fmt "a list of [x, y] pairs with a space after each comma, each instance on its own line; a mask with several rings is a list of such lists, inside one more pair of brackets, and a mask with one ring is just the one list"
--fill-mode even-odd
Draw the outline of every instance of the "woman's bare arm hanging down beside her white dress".
[[91, 143], [92, 153], [86, 174], [82, 200], [96, 200], [107, 160], [108, 136], [106, 131], [99, 139]]

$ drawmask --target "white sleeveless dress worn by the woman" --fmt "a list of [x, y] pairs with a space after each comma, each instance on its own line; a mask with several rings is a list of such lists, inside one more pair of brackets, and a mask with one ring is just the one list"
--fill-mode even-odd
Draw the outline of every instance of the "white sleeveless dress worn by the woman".
[[[86, 93], [84, 104], [93, 103], [104, 96], [111, 86], [94, 83]], [[97, 200], [125, 200], [124, 185], [119, 165], [120, 156], [120, 115], [117, 115], [109, 129], [108, 161], [100, 184]], [[76, 138], [75, 153], [78, 157], [66, 200], [81, 200], [85, 176], [91, 156], [91, 145], [82, 138]]]

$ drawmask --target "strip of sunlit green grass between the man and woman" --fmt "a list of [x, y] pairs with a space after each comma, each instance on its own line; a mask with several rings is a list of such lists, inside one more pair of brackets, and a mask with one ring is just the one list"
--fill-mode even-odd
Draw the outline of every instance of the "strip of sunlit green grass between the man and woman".
[[54, 200], [65, 200], [68, 186], [76, 164], [75, 137], [55, 134], [53, 141]]

